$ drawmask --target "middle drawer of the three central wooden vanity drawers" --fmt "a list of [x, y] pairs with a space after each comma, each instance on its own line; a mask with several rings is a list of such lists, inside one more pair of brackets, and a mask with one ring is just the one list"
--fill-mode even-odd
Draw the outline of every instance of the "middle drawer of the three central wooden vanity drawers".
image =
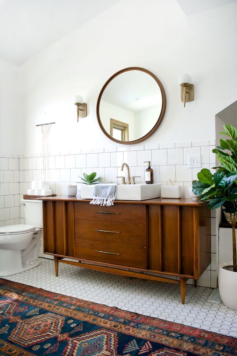
[[75, 240], [76, 246], [90, 240], [145, 247], [146, 225], [75, 220]]

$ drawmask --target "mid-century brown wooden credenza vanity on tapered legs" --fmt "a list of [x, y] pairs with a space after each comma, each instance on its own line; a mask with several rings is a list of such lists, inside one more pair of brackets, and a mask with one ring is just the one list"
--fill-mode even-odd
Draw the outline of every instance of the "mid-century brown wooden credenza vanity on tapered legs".
[[[59, 262], [123, 276], [186, 282], [210, 264], [210, 210], [192, 199], [89, 204], [78, 197], [43, 200], [44, 253]], [[65, 260], [65, 258], [70, 260]]]

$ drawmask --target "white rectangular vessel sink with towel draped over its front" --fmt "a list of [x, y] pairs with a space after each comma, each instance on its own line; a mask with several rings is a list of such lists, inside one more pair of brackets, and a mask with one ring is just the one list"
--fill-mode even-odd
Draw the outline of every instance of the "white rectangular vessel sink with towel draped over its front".
[[[95, 185], [81, 185], [81, 198], [92, 199]], [[118, 184], [115, 200], [146, 200], [159, 198], [160, 184]]]

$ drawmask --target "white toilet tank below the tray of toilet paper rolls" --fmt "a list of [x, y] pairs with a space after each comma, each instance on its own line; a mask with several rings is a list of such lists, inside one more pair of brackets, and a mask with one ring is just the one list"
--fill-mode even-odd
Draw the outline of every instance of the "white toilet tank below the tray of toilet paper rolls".
[[21, 199], [25, 212], [25, 224], [43, 227], [42, 200]]

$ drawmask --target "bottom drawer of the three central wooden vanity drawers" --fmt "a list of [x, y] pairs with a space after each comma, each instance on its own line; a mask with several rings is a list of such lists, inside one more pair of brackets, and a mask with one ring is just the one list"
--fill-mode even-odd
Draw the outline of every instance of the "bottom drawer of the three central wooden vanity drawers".
[[141, 246], [77, 240], [75, 257], [118, 266], [146, 268], [146, 249]]

